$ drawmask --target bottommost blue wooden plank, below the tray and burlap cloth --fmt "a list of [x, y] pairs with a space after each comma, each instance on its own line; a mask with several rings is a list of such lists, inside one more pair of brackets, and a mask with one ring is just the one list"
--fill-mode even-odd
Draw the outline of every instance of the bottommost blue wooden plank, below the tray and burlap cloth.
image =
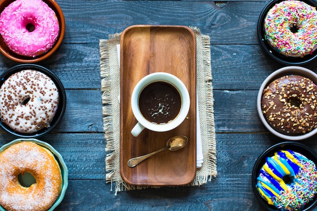
[[[244, 180], [243, 177], [234, 179]], [[232, 181], [222, 183], [221, 190], [231, 188], [228, 184]], [[239, 191], [239, 197], [235, 195], [237, 191], [221, 193], [218, 186], [212, 184], [135, 190], [120, 192], [117, 196], [108, 189], [109, 185], [100, 180], [70, 181], [64, 200], [55, 210], [265, 210], [247, 188]]]

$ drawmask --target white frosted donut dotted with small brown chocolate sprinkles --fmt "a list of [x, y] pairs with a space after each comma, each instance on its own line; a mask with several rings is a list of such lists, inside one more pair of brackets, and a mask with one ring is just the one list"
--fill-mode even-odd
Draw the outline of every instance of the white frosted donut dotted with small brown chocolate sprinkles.
[[59, 101], [54, 81], [36, 70], [22, 70], [0, 88], [1, 120], [19, 133], [35, 133], [50, 126]]

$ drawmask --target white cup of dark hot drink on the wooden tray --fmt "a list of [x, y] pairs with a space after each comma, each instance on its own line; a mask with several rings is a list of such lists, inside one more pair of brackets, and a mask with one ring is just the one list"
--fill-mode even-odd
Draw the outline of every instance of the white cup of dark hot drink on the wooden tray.
[[155, 72], [137, 83], [132, 92], [131, 106], [138, 120], [131, 134], [137, 137], [145, 128], [155, 132], [175, 129], [188, 114], [190, 98], [178, 77]]

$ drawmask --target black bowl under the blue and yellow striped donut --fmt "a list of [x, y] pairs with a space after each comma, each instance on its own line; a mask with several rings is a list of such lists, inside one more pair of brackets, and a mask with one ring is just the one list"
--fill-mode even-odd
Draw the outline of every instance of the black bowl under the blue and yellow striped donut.
[[[308, 146], [298, 143], [298, 142], [282, 142], [276, 145], [273, 145], [266, 149], [256, 160], [254, 166], [253, 166], [253, 171], [252, 171], [252, 189], [254, 191], [254, 194], [256, 198], [259, 200], [261, 205], [268, 210], [271, 211], [280, 211], [280, 209], [276, 208], [273, 205], [269, 205], [259, 194], [256, 184], [257, 184], [257, 178], [259, 176], [259, 172], [266, 162], [266, 157], [271, 157], [274, 155], [274, 152], [279, 151], [279, 150], [286, 150], [290, 149], [293, 150], [294, 152], [301, 153], [302, 155], [306, 156], [308, 159], [312, 160], [315, 164], [317, 164], [317, 154], [314, 152], [312, 149], [310, 149]], [[312, 207], [314, 207], [317, 203], [317, 194], [314, 196], [314, 198], [309, 201], [307, 204], [305, 204], [304, 208], [301, 209], [300, 211], [307, 211], [310, 210]]]

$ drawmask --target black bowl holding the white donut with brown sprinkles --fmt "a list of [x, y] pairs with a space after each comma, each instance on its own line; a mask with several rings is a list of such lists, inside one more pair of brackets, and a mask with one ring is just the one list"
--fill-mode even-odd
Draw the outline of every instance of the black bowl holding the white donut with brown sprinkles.
[[4, 81], [8, 77], [10, 77], [12, 74], [16, 72], [20, 72], [22, 70], [27, 70], [27, 69], [32, 69], [32, 70], [37, 70], [39, 72], [42, 72], [46, 74], [47, 76], [49, 76], [54, 81], [59, 92], [59, 102], [58, 102], [57, 111], [50, 123], [50, 126], [47, 128], [43, 128], [37, 131], [36, 133], [24, 134], [24, 133], [15, 132], [6, 123], [4, 123], [1, 120], [0, 120], [0, 127], [6, 132], [20, 138], [36, 138], [36, 137], [41, 137], [49, 133], [50, 131], [52, 131], [55, 128], [55, 126], [58, 124], [58, 122], [62, 119], [66, 109], [66, 93], [65, 93], [65, 89], [62, 82], [52, 71], [50, 71], [49, 69], [45, 67], [35, 65], [35, 64], [20, 64], [8, 69], [7, 71], [5, 71], [4, 73], [0, 75], [0, 87], [3, 85]]

